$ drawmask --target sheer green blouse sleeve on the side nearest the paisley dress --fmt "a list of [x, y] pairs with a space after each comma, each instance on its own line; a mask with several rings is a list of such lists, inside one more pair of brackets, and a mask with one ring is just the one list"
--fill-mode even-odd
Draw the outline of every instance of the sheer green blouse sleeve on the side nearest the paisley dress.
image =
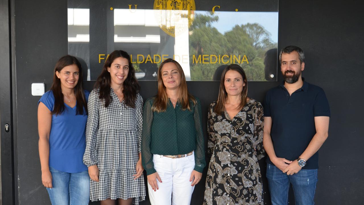
[[193, 113], [193, 118], [195, 120], [196, 129], [196, 149], [195, 149], [195, 168], [194, 170], [202, 173], [203, 168], [206, 166], [205, 161], [205, 142], [203, 140], [203, 130], [202, 130], [202, 111], [201, 102], [196, 98], [195, 109]]

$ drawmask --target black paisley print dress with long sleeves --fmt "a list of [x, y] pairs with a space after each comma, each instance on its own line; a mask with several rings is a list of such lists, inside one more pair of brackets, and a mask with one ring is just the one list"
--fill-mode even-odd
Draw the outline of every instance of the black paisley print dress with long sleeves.
[[227, 112], [208, 113], [207, 170], [204, 205], [263, 205], [263, 186], [258, 159], [263, 148], [263, 107], [250, 98], [230, 119]]

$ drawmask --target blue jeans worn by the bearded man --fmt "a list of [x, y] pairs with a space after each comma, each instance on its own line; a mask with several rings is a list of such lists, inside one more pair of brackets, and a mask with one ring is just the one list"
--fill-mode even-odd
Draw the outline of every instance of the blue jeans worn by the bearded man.
[[266, 177], [272, 205], [288, 204], [289, 183], [292, 183], [296, 205], [314, 204], [317, 169], [301, 169], [297, 174], [287, 175], [276, 166], [267, 164]]

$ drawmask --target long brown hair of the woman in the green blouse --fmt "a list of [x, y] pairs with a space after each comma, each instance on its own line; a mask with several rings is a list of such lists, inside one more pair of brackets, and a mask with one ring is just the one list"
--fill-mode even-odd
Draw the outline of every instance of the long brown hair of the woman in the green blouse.
[[179, 65], [179, 63], [177, 61], [175, 61], [171, 58], [166, 59], [165, 61], [163, 61], [161, 63], [161, 65], [159, 65], [159, 68], [158, 68], [158, 93], [154, 99], [152, 110], [157, 111], [157, 112], [165, 112], [167, 109], [167, 104], [168, 104], [169, 100], [167, 97], [166, 86], [164, 85], [163, 79], [162, 79], [162, 67], [166, 63], [170, 63], [170, 62], [174, 63], [177, 66], [179, 73], [181, 73], [181, 84], [179, 84], [178, 102], [182, 105], [182, 110], [188, 109], [189, 111], [191, 111], [190, 100], [192, 100], [193, 104], [196, 104], [196, 100], [188, 92], [185, 73], [183, 73], [183, 69], [182, 69], [181, 65]]

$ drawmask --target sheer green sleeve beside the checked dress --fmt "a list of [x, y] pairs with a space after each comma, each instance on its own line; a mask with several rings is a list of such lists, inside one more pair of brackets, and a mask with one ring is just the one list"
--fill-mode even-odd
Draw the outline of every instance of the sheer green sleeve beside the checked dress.
[[153, 111], [152, 111], [153, 98], [149, 98], [144, 105], [143, 109], [143, 130], [142, 130], [142, 165], [147, 171], [147, 175], [153, 174], [157, 171], [154, 169], [153, 154], [150, 148], [151, 142], [151, 129], [153, 124]]

